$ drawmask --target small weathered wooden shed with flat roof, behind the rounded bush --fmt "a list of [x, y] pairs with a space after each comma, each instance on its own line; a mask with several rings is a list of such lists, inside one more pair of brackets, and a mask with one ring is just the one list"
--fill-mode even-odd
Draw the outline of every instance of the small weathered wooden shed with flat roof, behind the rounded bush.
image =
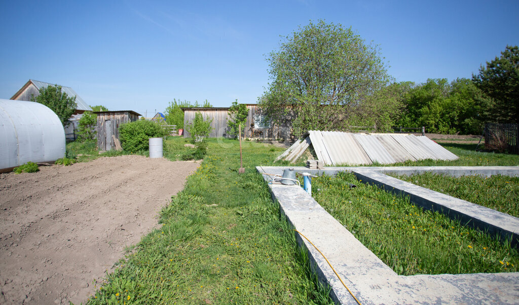
[[112, 135], [119, 139], [120, 124], [136, 121], [142, 115], [132, 110], [95, 111], [93, 113], [98, 116], [98, 124], [95, 130], [97, 131], [99, 150], [115, 148]]

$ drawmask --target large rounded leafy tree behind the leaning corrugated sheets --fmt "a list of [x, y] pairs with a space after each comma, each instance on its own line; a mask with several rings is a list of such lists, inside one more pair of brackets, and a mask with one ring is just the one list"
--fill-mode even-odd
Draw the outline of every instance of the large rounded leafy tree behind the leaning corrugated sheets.
[[259, 104], [278, 122], [294, 115], [295, 135], [344, 129], [365, 98], [389, 81], [376, 46], [323, 20], [286, 36], [267, 61], [271, 83]]

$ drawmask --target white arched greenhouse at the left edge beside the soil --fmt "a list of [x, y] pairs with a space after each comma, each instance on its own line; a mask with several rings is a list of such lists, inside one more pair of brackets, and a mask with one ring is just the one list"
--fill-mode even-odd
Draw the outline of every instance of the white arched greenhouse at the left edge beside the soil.
[[0, 171], [64, 155], [65, 130], [56, 113], [32, 101], [0, 99]]

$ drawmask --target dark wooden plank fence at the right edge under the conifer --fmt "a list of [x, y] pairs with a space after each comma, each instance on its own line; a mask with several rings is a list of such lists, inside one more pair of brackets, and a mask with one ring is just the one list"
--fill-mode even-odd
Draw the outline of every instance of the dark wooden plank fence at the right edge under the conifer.
[[485, 148], [519, 154], [519, 124], [485, 124]]

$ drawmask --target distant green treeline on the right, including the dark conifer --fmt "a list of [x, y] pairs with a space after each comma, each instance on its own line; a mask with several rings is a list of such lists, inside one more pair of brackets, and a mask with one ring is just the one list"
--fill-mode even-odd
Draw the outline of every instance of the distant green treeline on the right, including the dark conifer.
[[485, 122], [519, 123], [519, 48], [508, 46], [472, 79], [392, 83], [370, 98], [354, 123], [378, 130], [425, 126], [428, 133], [481, 134]]

